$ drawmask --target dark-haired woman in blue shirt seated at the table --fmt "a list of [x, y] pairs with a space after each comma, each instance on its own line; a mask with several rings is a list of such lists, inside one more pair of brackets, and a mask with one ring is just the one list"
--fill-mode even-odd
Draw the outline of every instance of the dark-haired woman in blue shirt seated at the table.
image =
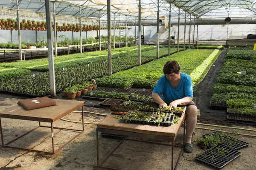
[[[197, 122], [198, 109], [193, 99], [193, 86], [189, 75], [180, 72], [177, 61], [169, 61], [163, 67], [164, 75], [160, 77], [152, 92], [154, 102], [160, 107], [176, 108], [177, 105], [186, 106], [186, 140], [184, 151], [192, 153], [192, 134]], [[160, 97], [159, 95], [162, 94]]]

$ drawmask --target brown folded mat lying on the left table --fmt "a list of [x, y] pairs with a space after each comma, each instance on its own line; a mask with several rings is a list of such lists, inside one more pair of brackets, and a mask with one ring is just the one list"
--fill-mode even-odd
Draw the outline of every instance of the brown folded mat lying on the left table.
[[22, 106], [26, 111], [33, 109], [55, 106], [56, 102], [48, 97], [38, 97], [33, 99], [19, 100], [18, 105]]

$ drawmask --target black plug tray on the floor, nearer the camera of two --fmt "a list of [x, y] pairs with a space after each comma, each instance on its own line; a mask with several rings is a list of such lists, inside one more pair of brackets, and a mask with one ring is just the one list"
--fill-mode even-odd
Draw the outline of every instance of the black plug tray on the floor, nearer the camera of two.
[[[227, 150], [228, 153], [225, 153], [225, 155], [220, 156], [220, 154], [217, 153], [218, 149]], [[231, 161], [239, 157], [241, 154], [242, 154], [241, 152], [238, 152], [237, 150], [233, 150], [229, 147], [216, 145], [206, 150], [201, 156], [197, 155], [195, 159], [205, 164], [208, 164], [211, 167], [221, 169], [224, 166], [226, 166], [228, 163], [230, 163]]]

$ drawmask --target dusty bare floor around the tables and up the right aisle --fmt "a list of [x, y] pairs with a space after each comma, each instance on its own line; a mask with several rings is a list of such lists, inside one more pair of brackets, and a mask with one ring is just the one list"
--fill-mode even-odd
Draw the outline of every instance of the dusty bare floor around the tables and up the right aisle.
[[[225, 111], [211, 110], [209, 109], [209, 100], [211, 95], [211, 87], [215, 84], [215, 75], [218, 74], [222, 63], [224, 62], [224, 55], [226, 50], [221, 53], [216, 62], [210, 68], [204, 81], [202, 81], [195, 93], [197, 106], [200, 109], [201, 117], [198, 122], [212, 124], [212, 125], [226, 125], [229, 127], [242, 127], [256, 130], [256, 126], [241, 124], [237, 122], [228, 122], [226, 119], [227, 114]], [[214, 66], [215, 65], [215, 66]], [[58, 95], [58, 99], [64, 99]], [[20, 100], [18, 96], [11, 96], [7, 94], [0, 94], [0, 111], [5, 108], [10, 108], [17, 104]], [[83, 99], [78, 99], [83, 100]], [[86, 105], [96, 106], [99, 102], [86, 101]], [[81, 109], [79, 109], [81, 111]], [[107, 108], [97, 107], [84, 107], [84, 111], [92, 111], [96, 113], [109, 114]], [[98, 116], [95, 114], [84, 113], [85, 122], [99, 122], [105, 116]], [[81, 121], [81, 113], [70, 113], [64, 117], [64, 119]], [[12, 139], [15, 139], [15, 135], [20, 136], [23, 133], [38, 126], [38, 122], [5, 119], [1, 118], [3, 127], [4, 142], [7, 143]], [[49, 123], [42, 123], [42, 125], [48, 125]], [[58, 120], [54, 123], [56, 127], [66, 128], [81, 128], [81, 124], [66, 122]], [[97, 156], [96, 156], [96, 125], [84, 125], [84, 133], [82, 133], [75, 140], [67, 144], [59, 152], [54, 155], [47, 155], [43, 153], [28, 152], [12, 148], [0, 147], [0, 170], [102, 170], [98, 168]], [[211, 128], [218, 130], [219, 127], [211, 127], [204, 125], [197, 125], [197, 127]], [[256, 135], [253, 131], [235, 130], [228, 128], [221, 128], [221, 130], [245, 133]], [[239, 131], [239, 132], [238, 132]], [[195, 136], [193, 140], [201, 137], [202, 134], [209, 133], [209, 130], [195, 129]], [[73, 136], [75, 132], [54, 130], [55, 148], [61, 146]], [[182, 143], [183, 128], [180, 129], [176, 139], [176, 144]], [[234, 161], [230, 162], [223, 168], [223, 170], [255, 170], [256, 169], [256, 137], [250, 136], [237, 136], [242, 141], [249, 142], [249, 146], [239, 150], [242, 155]], [[131, 138], [131, 137], [128, 137]], [[146, 139], [143, 139], [146, 140]], [[102, 138], [99, 136], [100, 142], [100, 159], [108, 154], [118, 144], [120, 139]], [[157, 141], [154, 141], [157, 142]], [[160, 142], [160, 141], [158, 141]], [[165, 142], [163, 142], [165, 143]], [[11, 146], [28, 147], [38, 150], [51, 151], [51, 129], [40, 127], [37, 130], [23, 136], [21, 139], [10, 144]], [[193, 143], [193, 153], [183, 153], [178, 169], [180, 170], [212, 170], [213, 167], [209, 167], [206, 164], [195, 161], [195, 155], [198, 152], [202, 152], [199, 147]], [[115, 167], [121, 170], [170, 170], [171, 161], [171, 147], [159, 144], [149, 144], [145, 142], [136, 142], [125, 140], [119, 148], [105, 161], [104, 166]], [[176, 163], [180, 148], [174, 149], [174, 163]]]

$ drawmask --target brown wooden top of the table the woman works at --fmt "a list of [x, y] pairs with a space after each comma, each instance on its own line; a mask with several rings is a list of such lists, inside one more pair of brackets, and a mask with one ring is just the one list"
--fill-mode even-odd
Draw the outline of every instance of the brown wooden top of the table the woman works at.
[[180, 117], [180, 122], [172, 126], [157, 126], [157, 125], [143, 125], [135, 123], [125, 123], [123, 120], [113, 118], [115, 114], [111, 113], [106, 118], [102, 119], [97, 127], [111, 130], [122, 130], [128, 132], [144, 133], [150, 135], [161, 136], [177, 136], [177, 133], [183, 123], [185, 114]]

